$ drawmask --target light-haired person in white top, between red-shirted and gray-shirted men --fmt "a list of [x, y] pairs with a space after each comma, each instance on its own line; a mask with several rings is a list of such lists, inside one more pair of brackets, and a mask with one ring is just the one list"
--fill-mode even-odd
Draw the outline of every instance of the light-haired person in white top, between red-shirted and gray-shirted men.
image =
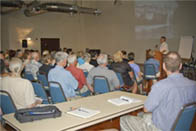
[[84, 72], [89, 72], [94, 66], [91, 65], [89, 62], [91, 60], [91, 56], [89, 53], [84, 54], [84, 61], [85, 63], [80, 65], [79, 68], [82, 69]]

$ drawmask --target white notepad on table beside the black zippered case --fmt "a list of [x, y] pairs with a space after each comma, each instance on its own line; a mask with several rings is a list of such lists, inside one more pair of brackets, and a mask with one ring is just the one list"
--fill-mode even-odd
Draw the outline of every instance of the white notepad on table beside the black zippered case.
[[67, 113], [74, 115], [74, 116], [82, 117], [82, 118], [89, 118], [89, 117], [99, 114], [100, 111], [80, 107], [75, 110], [68, 111]]

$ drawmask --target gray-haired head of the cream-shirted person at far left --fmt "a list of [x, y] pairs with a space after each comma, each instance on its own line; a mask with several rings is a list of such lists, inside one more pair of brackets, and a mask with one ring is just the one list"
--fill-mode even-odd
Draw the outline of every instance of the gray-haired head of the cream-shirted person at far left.
[[12, 58], [9, 63], [9, 69], [13, 74], [20, 75], [23, 70], [23, 63], [19, 58]]

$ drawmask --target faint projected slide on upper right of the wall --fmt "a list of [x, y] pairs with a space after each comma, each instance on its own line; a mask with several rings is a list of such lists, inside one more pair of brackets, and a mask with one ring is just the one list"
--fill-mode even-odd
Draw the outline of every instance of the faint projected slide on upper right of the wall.
[[173, 38], [174, 13], [177, 7], [175, 1], [136, 1], [136, 39], [157, 39], [162, 35]]

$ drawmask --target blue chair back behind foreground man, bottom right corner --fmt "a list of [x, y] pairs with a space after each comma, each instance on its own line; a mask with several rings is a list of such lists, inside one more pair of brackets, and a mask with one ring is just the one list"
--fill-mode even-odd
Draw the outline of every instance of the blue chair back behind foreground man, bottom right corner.
[[196, 102], [184, 105], [178, 113], [176, 121], [173, 124], [172, 130], [188, 131], [191, 128], [196, 112]]

